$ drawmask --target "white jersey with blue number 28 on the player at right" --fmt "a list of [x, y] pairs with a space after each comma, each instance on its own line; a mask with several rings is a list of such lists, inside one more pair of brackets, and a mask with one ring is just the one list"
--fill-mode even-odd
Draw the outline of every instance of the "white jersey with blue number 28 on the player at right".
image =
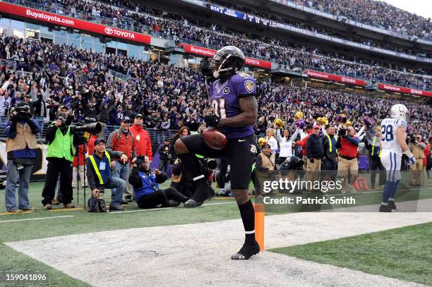
[[400, 126], [407, 128], [407, 121], [402, 118], [385, 118], [381, 122], [381, 145], [383, 152], [402, 154], [402, 148], [397, 142], [396, 130]]

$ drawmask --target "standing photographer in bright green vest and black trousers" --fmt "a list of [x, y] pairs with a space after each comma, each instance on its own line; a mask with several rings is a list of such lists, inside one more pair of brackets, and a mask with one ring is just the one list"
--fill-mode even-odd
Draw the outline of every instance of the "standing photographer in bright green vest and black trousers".
[[45, 209], [52, 209], [57, 179], [60, 174], [60, 189], [65, 208], [74, 208], [72, 205], [72, 162], [75, 156], [75, 147], [82, 145], [83, 137], [74, 132], [75, 126], [66, 122], [67, 115], [59, 113], [56, 121], [47, 128], [47, 177], [42, 190], [42, 204]]

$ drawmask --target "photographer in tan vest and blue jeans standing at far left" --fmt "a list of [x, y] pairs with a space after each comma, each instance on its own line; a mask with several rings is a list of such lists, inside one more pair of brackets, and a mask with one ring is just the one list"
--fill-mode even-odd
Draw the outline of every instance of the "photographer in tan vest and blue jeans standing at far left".
[[[5, 133], [7, 167], [5, 202], [6, 211], [20, 213], [23, 210], [33, 210], [28, 201], [28, 183], [36, 158], [37, 142], [35, 135], [40, 133], [40, 127], [30, 118], [30, 106], [19, 102], [10, 112]], [[18, 199], [16, 206], [16, 185], [19, 177]]]

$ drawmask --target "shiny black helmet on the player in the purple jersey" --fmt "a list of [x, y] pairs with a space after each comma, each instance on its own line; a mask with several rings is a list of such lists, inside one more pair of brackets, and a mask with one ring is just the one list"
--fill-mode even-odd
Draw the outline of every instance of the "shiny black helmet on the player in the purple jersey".
[[213, 77], [219, 78], [221, 73], [235, 73], [244, 66], [243, 52], [234, 46], [226, 46], [217, 50], [215, 56], [210, 59], [208, 68], [212, 71]]

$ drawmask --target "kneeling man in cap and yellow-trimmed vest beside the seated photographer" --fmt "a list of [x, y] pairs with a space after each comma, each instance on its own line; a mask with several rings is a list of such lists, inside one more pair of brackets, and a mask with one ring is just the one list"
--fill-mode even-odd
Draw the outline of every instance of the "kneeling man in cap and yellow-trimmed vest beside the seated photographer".
[[[128, 156], [124, 152], [114, 152], [110, 149], [105, 149], [105, 140], [97, 138], [95, 140], [95, 152], [90, 154], [85, 161], [88, 185], [90, 185], [90, 189], [92, 190], [92, 196], [88, 203], [89, 212], [107, 211], [102, 197], [105, 188], [112, 188], [109, 211], [124, 210], [121, 207], [121, 197], [123, 197], [126, 182], [113, 175], [111, 162], [114, 159], [119, 159], [125, 164], [128, 161]], [[96, 207], [96, 204], [99, 206]]]

